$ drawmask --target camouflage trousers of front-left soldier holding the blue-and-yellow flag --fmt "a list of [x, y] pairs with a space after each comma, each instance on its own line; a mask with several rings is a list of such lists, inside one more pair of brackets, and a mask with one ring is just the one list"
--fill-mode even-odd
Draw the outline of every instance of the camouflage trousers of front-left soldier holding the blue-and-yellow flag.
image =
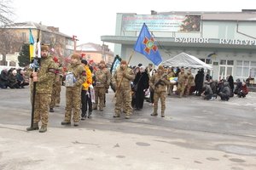
[[51, 94], [36, 93], [34, 123], [38, 123], [41, 120], [42, 125], [48, 124], [50, 96]]

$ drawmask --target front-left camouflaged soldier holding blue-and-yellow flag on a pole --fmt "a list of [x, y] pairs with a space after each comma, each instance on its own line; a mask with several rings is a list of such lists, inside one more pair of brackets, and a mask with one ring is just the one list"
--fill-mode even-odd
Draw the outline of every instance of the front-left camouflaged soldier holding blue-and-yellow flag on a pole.
[[36, 82], [36, 94], [34, 124], [32, 127], [27, 127], [26, 130], [38, 130], [38, 122], [41, 120], [42, 126], [39, 133], [44, 133], [47, 131], [49, 102], [55, 77], [55, 63], [52, 57], [49, 56], [48, 46], [41, 46], [41, 57], [38, 72], [33, 72], [32, 69], [27, 71], [27, 74], [32, 78], [32, 82]]

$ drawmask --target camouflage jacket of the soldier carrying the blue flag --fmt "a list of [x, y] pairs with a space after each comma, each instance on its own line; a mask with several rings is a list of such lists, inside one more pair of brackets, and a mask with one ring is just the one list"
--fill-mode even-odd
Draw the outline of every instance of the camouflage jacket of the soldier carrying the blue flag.
[[118, 68], [117, 71], [114, 72], [112, 77], [113, 87], [119, 88], [119, 89], [131, 90], [131, 81], [133, 81], [134, 78], [135, 78], [134, 72], [130, 68], [127, 68], [126, 70], [122, 70], [121, 68]]

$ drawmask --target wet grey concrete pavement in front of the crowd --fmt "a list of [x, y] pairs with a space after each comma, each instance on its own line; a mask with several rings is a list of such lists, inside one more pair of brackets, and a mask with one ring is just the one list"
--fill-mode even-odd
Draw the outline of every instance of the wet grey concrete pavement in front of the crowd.
[[[62, 88], [61, 96], [65, 96]], [[147, 103], [130, 120], [107, 108], [79, 127], [61, 126], [64, 102], [49, 115], [47, 133], [30, 125], [27, 89], [0, 90], [0, 169], [254, 170], [256, 94], [229, 102], [167, 97], [166, 118]]]

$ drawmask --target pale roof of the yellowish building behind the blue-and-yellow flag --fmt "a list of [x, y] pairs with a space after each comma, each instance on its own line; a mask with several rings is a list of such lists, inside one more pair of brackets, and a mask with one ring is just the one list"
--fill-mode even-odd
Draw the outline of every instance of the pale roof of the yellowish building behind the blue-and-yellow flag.
[[[56, 27], [53, 27], [53, 26], [44, 26], [42, 24], [38, 24], [36, 22], [32, 22], [32, 21], [27, 21], [27, 22], [19, 22], [19, 23], [13, 23], [13, 24], [10, 24], [9, 26], [6, 26], [6, 28], [16, 28], [16, 29], [38, 29], [38, 30], [41, 30], [41, 31], [47, 31], [47, 32], [50, 32], [50, 33], [55, 33], [55, 34], [58, 34], [62, 37], [69, 37], [69, 38], [72, 38], [70, 36], [67, 36], [67, 34], [64, 34], [64, 33], [61, 33], [59, 31], [58, 28]], [[55, 29], [49, 29], [49, 28], [55, 28]]]

